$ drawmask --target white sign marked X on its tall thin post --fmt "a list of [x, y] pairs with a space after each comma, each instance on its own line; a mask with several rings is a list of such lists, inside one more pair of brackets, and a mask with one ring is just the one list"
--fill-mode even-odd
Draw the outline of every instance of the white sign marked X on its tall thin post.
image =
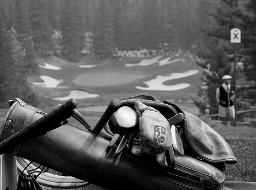
[[236, 126], [236, 43], [241, 43], [241, 30], [234, 28], [230, 31], [231, 43], [234, 43], [234, 88], [235, 88], [235, 126]]

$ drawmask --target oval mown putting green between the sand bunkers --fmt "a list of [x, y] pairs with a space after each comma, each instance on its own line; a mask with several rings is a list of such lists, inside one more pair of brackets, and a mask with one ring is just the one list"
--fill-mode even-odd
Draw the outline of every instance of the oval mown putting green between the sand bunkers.
[[106, 70], [81, 74], [73, 80], [73, 83], [92, 87], [113, 86], [131, 83], [143, 77], [143, 74]]

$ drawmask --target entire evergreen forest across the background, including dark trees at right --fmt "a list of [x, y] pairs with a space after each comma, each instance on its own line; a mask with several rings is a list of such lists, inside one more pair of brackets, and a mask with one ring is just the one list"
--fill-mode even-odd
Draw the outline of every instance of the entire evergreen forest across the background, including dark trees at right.
[[[75, 62], [85, 53], [105, 59], [116, 50], [182, 49], [194, 53], [206, 69], [203, 80], [210, 88], [201, 90], [199, 97], [202, 105], [211, 105], [215, 112], [211, 89], [221, 75], [233, 75], [232, 28], [242, 31], [240, 74], [250, 77], [246, 80], [256, 79], [255, 4], [254, 0], [1, 0], [0, 66], [5, 70], [0, 73], [0, 96], [5, 99], [6, 88], [14, 89], [6, 76], [24, 82], [38, 72], [38, 55]], [[8, 57], [2, 48], [6, 46]], [[24, 75], [19, 74], [21, 70]], [[32, 93], [26, 95], [29, 86], [22, 84], [19, 93], [24, 95], [19, 97], [35, 99]]]

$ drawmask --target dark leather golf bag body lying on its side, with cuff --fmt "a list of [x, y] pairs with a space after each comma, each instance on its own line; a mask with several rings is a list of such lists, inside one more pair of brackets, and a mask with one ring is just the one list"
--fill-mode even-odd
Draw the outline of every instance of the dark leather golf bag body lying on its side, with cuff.
[[[155, 107], [159, 104], [154, 103]], [[37, 108], [15, 102], [0, 129], [1, 141], [41, 116]], [[107, 155], [108, 144], [109, 140], [99, 135], [66, 124], [8, 153], [108, 189], [221, 189], [225, 183], [224, 173], [190, 156], [175, 155], [174, 168], [166, 168], [139, 146], [131, 151], [125, 147], [114, 158], [118, 144]]]

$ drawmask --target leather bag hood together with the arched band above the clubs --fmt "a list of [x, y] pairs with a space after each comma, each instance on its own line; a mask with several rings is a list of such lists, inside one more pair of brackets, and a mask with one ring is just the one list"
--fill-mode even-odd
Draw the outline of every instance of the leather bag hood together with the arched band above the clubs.
[[[144, 98], [144, 99], [141, 99]], [[136, 101], [140, 101], [147, 106], [156, 108], [166, 119], [183, 113], [184, 120], [177, 123], [180, 127], [180, 136], [184, 146], [184, 153], [193, 157], [200, 157], [210, 163], [235, 164], [237, 162], [229, 144], [197, 116], [183, 111], [174, 103], [168, 101], [152, 100], [152, 96], [147, 99], [146, 95], [134, 96], [121, 99], [120, 106], [133, 107]]]

